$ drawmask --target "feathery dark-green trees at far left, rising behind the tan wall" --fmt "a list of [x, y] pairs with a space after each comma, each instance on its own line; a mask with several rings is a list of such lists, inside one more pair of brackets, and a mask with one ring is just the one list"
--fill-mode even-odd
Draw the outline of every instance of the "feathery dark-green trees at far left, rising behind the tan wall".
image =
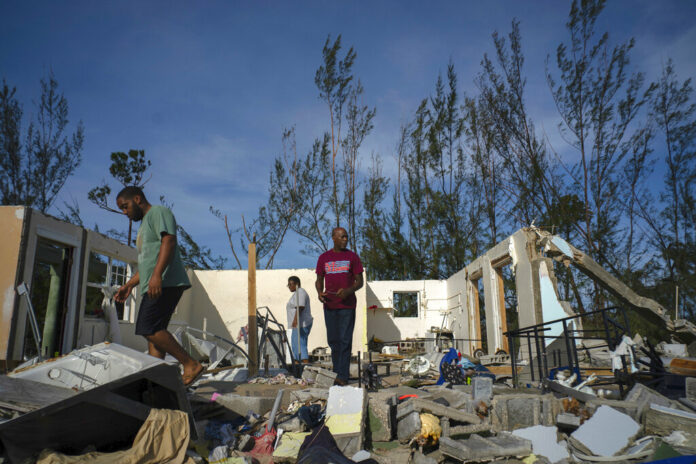
[[3, 80], [0, 91], [0, 194], [3, 204], [22, 204], [45, 213], [82, 160], [84, 128], [66, 133], [68, 102], [51, 72], [41, 79], [35, 120], [22, 147], [22, 107], [16, 89]]

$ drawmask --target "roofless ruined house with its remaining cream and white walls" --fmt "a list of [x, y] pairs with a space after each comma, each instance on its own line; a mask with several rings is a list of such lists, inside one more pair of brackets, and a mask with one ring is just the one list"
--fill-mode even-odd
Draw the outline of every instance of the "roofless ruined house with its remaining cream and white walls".
[[[0, 275], [0, 359], [16, 363], [36, 355], [30, 301], [43, 357], [105, 340], [145, 349], [142, 337], [134, 335], [137, 291], [124, 305], [111, 300], [114, 290], [135, 271], [134, 248], [24, 207], [0, 207], [0, 217], [6, 231], [0, 252], [7, 263]], [[672, 321], [659, 304], [636, 295], [560, 237], [525, 228], [446, 280], [367, 282], [356, 295], [353, 350], [365, 352], [371, 341], [401, 343], [408, 349], [408, 340], [430, 349], [436, 341], [448, 339], [451, 346], [476, 358], [509, 354], [504, 335], [509, 320], [515, 321], [514, 328], [523, 328], [576, 315], [559, 297], [553, 259], [578, 267], [629, 309], [665, 324], [676, 336], [692, 339], [692, 324]], [[312, 269], [257, 271], [259, 312], [270, 310], [286, 324], [285, 304], [290, 297], [286, 283], [291, 275], [310, 288], [314, 325], [309, 349], [325, 347]], [[189, 276], [192, 288], [184, 293], [170, 331], [191, 327], [243, 343], [247, 271], [189, 271]], [[505, 288], [506, 283], [514, 288]], [[18, 293], [21, 284], [27, 294]], [[506, 294], [513, 298], [506, 300]], [[580, 328], [581, 320], [574, 324]], [[560, 324], [552, 325], [546, 334], [557, 336], [561, 330]], [[518, 348], [523, 358], [528, 356], [529, 350]]]

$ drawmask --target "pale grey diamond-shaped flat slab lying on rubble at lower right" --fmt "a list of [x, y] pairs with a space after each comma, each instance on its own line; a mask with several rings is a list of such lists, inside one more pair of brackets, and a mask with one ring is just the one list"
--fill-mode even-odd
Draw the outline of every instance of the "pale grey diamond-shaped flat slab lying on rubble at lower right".
[[639, 430], [640, 424], [627, 414], [600, 406], [571, 437], [596, 456], [613, 456], [626, 447]]

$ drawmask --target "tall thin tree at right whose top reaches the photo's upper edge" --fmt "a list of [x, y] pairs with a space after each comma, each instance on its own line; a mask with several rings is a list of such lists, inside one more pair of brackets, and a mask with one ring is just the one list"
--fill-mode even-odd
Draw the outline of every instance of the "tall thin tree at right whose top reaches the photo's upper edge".
[[[611, 47], [609, 35], [597, 38], [595, 23], [604, 0], [573, 1], [566, 24], [570, 41], [556, 50], [558, 75], [546, 77], [562, 118], [562, 133], [579, 155], [570, 168], [584, 204], [578, 232], [600, 264], [618, 272], [620, 171], [630, 144], [631, 123], [646, 100], [643, 74], [629, 70], [634, 40]], [[648, 92], [651, 89], [648, 89]]]

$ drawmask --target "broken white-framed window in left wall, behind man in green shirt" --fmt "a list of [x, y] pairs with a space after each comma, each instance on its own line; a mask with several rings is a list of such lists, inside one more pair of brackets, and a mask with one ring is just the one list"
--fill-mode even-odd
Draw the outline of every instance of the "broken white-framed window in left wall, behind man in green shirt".
[[[128, 263], [110, 256], [95, 252], [89, 254], [89, 268], [87, 273], [87, 296], [85, 298], [85, 316], [104, 317], [102, 303], [104, 301], [104, 288], [116, 290], [125, 284], [131, 276]], [[131, 296], [125, 303], [115, 302], [118, 319], [130, 320], [134, 305]]]

